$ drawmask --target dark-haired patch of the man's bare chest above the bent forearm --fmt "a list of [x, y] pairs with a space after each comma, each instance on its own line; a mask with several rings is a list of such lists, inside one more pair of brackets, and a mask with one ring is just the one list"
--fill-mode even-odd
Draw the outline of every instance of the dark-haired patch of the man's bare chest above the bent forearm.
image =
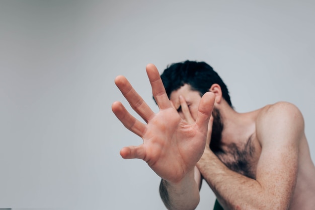
[[251, 135], [242, 143], [220, 147], [220, 150], [214, 153], [230, 170], [252, 179], [256, 178], [261, 146], [255, 135]]

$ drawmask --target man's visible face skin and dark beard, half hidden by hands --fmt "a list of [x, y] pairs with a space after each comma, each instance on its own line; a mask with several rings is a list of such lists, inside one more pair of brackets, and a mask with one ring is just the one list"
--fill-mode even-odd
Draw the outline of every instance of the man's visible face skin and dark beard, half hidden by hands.
[[[181, 109], [181, 103], [179, 96], [183, 96], [188, 105], [190, 114], [194, 120], [197, 118], [198, 106], [201, 100], [200, 93], [191, 89], [191, 86], [185, 84], [180, 89], [173, 91], [170, 95], [170, 100], [173, 102], [175, 108], [178, 110], [180, 116], [185, 119], [183, 111]], [[212, 124], [212, 133], [211, 133], [211, 143], [210, 148], [216, 150], [218, 144], [221, 141], [221, 134], [223, 130], [223, 123], [220, 116], [219, 110], [214, 106], [212, 111], [213, 124]]]

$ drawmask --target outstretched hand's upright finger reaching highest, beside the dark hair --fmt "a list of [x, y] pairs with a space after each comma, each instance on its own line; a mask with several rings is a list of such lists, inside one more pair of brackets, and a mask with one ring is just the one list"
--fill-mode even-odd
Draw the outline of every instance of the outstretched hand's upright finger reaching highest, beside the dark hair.
[[170, 100], [165, 92], [161, 76], [159, 74], [159, 71], [157, 71], [155, 65], [147, 64], [146, 73], [152, 87], [153, 97], [159, 108], [160, 109], [170, 108], [171, 107]]

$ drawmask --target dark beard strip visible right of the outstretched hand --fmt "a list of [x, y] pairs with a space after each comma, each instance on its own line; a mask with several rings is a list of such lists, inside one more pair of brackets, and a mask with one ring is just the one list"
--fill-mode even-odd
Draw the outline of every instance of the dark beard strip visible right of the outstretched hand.
[[213, 124], [211, 132], [210, 149], [212, 150], [213, 153], [215, 153], [221, 151], [220, 145], [222, 138], [223, 123], [220, 111], [218, 109], [213, 108], [212, 116]]

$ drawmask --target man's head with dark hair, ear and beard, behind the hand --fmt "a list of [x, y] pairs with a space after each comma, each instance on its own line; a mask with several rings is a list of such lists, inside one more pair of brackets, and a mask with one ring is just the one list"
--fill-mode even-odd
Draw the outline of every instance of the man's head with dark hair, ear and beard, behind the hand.
[[[185, 97], [189, 106], [190, 113], [196, 119], [197, 109], [203, 94], [211, 89], [219, 89], [223, 99], [232, 107], [226, 85], [213, 68], [205, 62], [186, 60], [185, 62], [173, 63], [168, 66], [161, 75], [163, 84], [170, 100], [174, 103], [179, 114], [183, 117], [180, 110], [179, 96]], [[220, 88], [217, 88], [219, 86]], [[213, 124], [211, 133], [210, 148], [213, 152], [219, 150], [223, 122], [220, 111], [214, 107], [212, 111]]]

